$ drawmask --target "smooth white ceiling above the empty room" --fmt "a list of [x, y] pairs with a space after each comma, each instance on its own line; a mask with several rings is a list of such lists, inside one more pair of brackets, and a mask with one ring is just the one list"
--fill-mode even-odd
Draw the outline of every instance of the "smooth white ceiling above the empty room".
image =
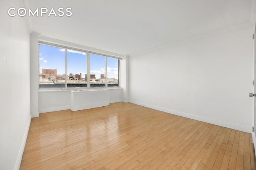
[[72, 16], [30, 17], [42, 36], [134, 54], [253, 23], [255, 0], [28, 0], [29, 8], [72, 8]]

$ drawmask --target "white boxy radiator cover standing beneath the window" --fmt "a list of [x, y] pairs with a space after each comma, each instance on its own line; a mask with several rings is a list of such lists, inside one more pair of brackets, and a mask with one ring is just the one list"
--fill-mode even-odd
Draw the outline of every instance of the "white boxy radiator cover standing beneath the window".
[[83, 110], [109, 106], [109, 90], [74, 90], [71, 91], [71, 110]]

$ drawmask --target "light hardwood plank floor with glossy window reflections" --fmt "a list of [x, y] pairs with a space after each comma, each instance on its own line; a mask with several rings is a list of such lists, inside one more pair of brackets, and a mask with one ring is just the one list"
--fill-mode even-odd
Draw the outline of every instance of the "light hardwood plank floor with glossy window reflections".
[[20, 169], [254, 170], [252, 135], [130, 103], [32, 118]]

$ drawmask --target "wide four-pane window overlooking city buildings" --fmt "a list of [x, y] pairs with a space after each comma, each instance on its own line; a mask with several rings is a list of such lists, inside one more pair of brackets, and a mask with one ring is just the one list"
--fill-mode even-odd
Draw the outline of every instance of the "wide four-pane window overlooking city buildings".
[[44, 44], [39, 49], [39, 88], [119, 86], [119, 59]]

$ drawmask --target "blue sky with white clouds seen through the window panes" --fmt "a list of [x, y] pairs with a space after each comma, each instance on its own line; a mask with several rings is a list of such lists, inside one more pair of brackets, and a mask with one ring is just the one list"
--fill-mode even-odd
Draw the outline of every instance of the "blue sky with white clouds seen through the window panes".
[[[40, 73], [42, 68], [57, 69], [57, 74], [65, 74], [65, 49], [40, 45], [39, 54]], [[105, 74], [105, 57], [90, 55], [90, 74], [95, 74], [100, 78], [100, 74]], [[80, 51], [68, 50], [68, 74], [80, 74], [82, 78], [87, 74], [87, 54]], [[118, 59], [108, 57], [108, 78], [118, 79]]]

